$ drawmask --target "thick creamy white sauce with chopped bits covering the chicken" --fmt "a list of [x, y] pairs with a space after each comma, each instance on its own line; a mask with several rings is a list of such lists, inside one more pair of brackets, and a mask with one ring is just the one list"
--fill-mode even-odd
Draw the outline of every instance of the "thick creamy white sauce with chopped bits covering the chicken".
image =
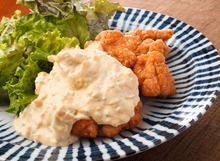
[[118, 126], [134, 115], [140, 100], [137, 77], [100, 45], [66, 48], [48, 60], [54, 66], [49, 74], [41, 72], [36, 78], [38, 97], [13, 123], [23, 137], [66, 146], [78, 140], [70, 132], [80, 119]]

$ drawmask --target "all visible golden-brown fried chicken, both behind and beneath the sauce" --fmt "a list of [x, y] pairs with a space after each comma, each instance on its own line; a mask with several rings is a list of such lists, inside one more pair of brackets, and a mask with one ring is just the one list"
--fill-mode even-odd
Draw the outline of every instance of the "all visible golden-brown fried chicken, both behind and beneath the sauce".
[[[172, 35], [173, 30], [170, 29], [138, 29], [125, 34], [117, 30], [106, 30], [98, 34], [95, 41], [100, 41], [104, 51], [133, 70], [144, 96], [167, 97], [176, 92], [175, 81], [165, 64], [171, 49], [164, 41]], [[88, 41], [85, 48], [91, 43], [93, 41]], [[123, 130], [135, 128], [141, 122], [141, 107], [140, 101], [135, 107], [135, 115], [117, 127], [98, 125], [93, 119], [79, 120], [73, 125], [71, 133], [79, 137], [113, 137]]]

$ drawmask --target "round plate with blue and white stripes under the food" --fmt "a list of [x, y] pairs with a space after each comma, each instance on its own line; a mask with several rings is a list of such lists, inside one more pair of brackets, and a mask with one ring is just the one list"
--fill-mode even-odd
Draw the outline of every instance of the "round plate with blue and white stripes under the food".
[[167, 64], [177, 93], [168, 99], [144, 98], [143, 121], [114, 138], [83, 139], [67, 147], [49, 147], [20, 137], [13, 117], [0, 108], [0, 160], [110, 160], [155, 147], [184, 131], [212, 105], [220, 90], [220, 57], [198, 30], [175, 18], [151, 11], [126, 8], [109, 21], [123, 32], [137, 28], [173, 29], [167, 42], [172, 52]]

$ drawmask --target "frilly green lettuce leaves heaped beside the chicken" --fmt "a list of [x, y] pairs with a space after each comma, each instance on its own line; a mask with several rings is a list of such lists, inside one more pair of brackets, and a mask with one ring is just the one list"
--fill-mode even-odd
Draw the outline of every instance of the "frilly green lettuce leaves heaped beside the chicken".
[[0, 22], [0, 93], [10, 100], [7, 112], [19, 113], [37, 96], [35, 78], [49, 72], [47, 56], [64, 47], [83, 47], [102, 30], [115, 11], [124, 11], [108, 0], [18, 0], [30, 9], [15, 11]]

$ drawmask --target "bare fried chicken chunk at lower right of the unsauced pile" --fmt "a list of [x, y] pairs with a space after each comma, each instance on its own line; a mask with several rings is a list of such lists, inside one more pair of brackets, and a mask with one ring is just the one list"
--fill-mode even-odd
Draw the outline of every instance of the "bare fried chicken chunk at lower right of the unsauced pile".
[[175, 94], [175, 81], [161, 52], [151, 51], [138, 56], [133, 71], [144, 96], [167, 97]]

